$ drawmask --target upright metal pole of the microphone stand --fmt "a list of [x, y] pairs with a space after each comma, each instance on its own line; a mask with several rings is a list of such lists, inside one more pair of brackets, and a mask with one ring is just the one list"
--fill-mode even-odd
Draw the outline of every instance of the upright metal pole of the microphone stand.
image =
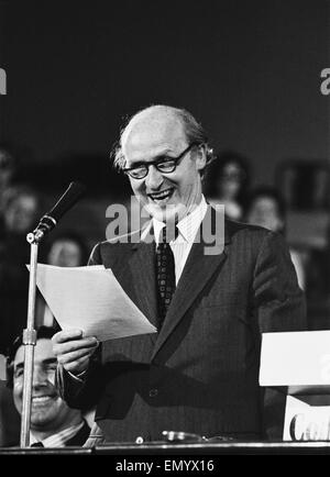
[[31, 402], [33, 386], [33, 359], [34, 346], [36, 343], [36, 331], [34, 330], [35, 314], [35, 288], [36, 288], [36, 265], [38, 241], [33, 233], [26, 237], [31, 244], [30, 256], [30, 281], [29, 281], [29, 304], [26, 329], [23, 331], [24, 345], [24, 380], [23, 380], [23, 407], [21, 421], [21, 447], [30, 445]]

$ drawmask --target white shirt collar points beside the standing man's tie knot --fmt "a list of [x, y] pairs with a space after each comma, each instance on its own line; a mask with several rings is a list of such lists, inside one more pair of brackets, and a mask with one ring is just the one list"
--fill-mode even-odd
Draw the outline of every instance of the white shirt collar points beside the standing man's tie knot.
[[[190, 212], [189, 214], [185, 215], [178, 223], [178, 236], [175, 240], [177, 243], [193, 243], [194, 239], [197, 234], [197, 231], [201, 224], [202, 219], [205, 218], [205, 214], [207, 212], [207, 202], [205, 200], [205, 197], [201, 197], [201, 201], [199, 204]], [[155, 234], [155, 241], [156, 244], [160, 242], [160, 236], [162, 229], [165, 226], [164, 222], [158, 221], [157, 219], [152, 220], [152, 224], [154, 228], [154, 234]]]

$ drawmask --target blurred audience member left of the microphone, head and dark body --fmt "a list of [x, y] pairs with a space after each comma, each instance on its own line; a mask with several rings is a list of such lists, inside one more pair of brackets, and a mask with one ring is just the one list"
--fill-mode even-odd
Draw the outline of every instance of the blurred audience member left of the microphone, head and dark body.
[[33, 189], [18, 186], [8, 191], [0, 251], [0, 353], [25, 326], [29, 289], [25, 264], [30, 263], [25, 235], [34, 229], [38, 212], [40, 198]]

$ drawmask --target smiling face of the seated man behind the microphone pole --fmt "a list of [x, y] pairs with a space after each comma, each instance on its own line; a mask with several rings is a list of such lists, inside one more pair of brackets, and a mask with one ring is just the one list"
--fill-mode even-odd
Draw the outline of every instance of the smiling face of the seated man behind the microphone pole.
[[[55, 387], [57, 359], [52, 341], [40, 339], [34, 350], [31, 429], [55, 432], [72, 420], [78, 411], [70, 409], [59, 397]], [[13, 399], [18, 411], [22, 412], [24, 346], [16, 351], [13, 364]]]

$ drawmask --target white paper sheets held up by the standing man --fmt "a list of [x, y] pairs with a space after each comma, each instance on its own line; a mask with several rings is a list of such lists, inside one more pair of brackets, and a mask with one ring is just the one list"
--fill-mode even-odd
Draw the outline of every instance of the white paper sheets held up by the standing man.
[[79, 329], [99, 341], [157, 331], [124, 292], [112, 270], [102, 265], [37, 264], [36, 285], [63, 330]]

